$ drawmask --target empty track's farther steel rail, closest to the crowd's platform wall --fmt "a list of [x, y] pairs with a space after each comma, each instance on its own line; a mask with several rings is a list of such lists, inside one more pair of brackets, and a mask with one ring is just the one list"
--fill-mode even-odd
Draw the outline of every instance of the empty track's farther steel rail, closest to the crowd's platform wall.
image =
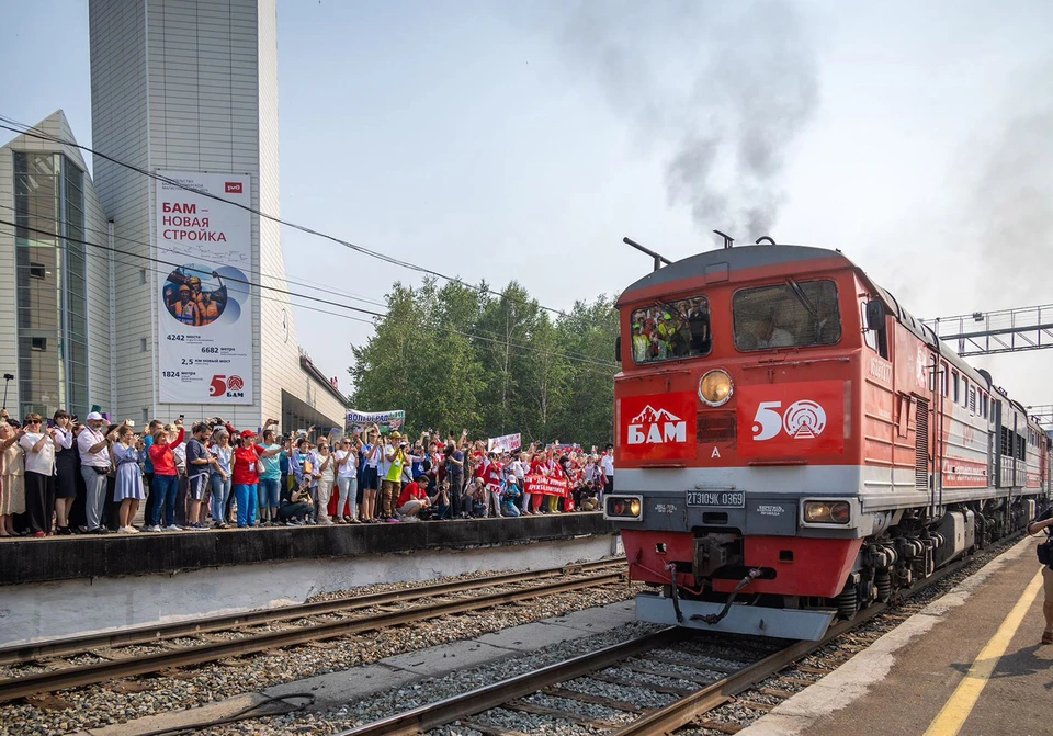
[[332, 600], [316, 601], [313, 603], [297, 603], [282, 608], [231, 613], [227, 615], [211, 616], [207, 619], [196, 619], [193, 621], [177, 621], [157, 626], [137, 626], [135, 629], [122, 629], [116, 632], [102, 632], [100, 634], [89, 634], [87, 636], [70, 636], [66, 638], [48, 639], [31, 644], [16, 644], [14, 646], [0, 648], [0, 665], [14, 665], [36, 661], [38, 659], [50, 657], [68, 657], [79, 654], [87, 654], [92, 649], [99, 648], [113, 648], [132, 646], [136, 644], [154, 644], [160, 641], [178, 638], [181, 636], [194, 636], [214, 631], [273, 623], [275, 621], [303, 619], [326, 613], [358, 611], [361, 609], [372, 608], [374, 605], [383, 605], [385, 603], [407, 602], [420, 598], [430, 598], [432, 596], [441, 596], [444, 593], [466, 592], [471, 590], [477, 590], [479, 588], [510, 585], [525, 580], [536, 580], [557, 575], [591, 573], [614, 566], [624, 567], [624, 557], [616, 559], [600, 559], [589, 563], [565, 565], [563, 567], [547, 567], [532, 571], [501, 573], [498, 575], [488, 575], [482, 578], [472, 578], [469, 580], [437, 582], [417, 588], [404, 588], [400, 590], [369, 593], [365, 596], [346, 596], [341, 598], [335, 598]]

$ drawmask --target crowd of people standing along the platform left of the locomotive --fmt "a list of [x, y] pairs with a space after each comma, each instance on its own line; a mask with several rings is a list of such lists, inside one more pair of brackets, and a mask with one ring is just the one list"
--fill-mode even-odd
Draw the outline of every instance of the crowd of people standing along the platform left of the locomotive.
[[283, 435], [275, 420], [258, 434], [222, 417], [136, 432], [95, 411], [82, 423], [0, 411], [0, 537], [588, 511], [613, 477], [610, 445], [488, 450], [467, 431], [410, 439], [376, 424]]

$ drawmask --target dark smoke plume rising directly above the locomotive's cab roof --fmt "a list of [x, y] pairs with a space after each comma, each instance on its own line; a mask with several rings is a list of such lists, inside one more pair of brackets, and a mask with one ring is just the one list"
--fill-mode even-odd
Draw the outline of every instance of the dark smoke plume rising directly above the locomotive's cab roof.
[[670, 204], [706, 233], [771, 231], [786, 154], [818, 104], [815, 46], [794, 5], [585, 2], [562, 41], [638, 138], [666, 151]]

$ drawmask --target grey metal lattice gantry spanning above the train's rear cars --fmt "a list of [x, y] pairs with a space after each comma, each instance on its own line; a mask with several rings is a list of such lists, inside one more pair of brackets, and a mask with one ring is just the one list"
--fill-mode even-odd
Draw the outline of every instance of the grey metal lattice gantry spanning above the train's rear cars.
[[1053, 304], [921, 321], [962, 358], [1053, 348]]

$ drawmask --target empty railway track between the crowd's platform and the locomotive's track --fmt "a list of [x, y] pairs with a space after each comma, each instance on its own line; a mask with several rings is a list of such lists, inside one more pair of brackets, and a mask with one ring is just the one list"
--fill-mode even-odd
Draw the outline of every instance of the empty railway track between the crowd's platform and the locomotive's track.
[[[575, 577], [567, 579], [568, 576]], [[8, 647], [0, 649], [0, 665], [33, 663], [52, 666], [55, 669], [0, 680], [0, 703], [125, 677], [163, 672], [173, 668], [212, 663], [305, 642], [354, 636], [390, 626], [607, 586], [623, 580], [625, 580], [624, 559], [605, 559]], [[442, 598], [495, 587], [510, 588], [464, 598]], [[419, 605], [395, 608], [415, 601], [424, 602]], [[373, 611], [356, 614], [367, 609]], [[274, 631], [252, 629], [275, 623], [281, 624], [282, 627]], [[214, 632], [237, 632], [239, 637], [220, 638], [213, 636]], [[186, 639], [190, 642], [186, 643]], [[121, 652], [121, 647], [137, 645], [161, 646], [165, 650], [145, 655]], [[68, 661], [84, 655], [103, 659], [103, 661], [87, 665], [71, 665]]]

